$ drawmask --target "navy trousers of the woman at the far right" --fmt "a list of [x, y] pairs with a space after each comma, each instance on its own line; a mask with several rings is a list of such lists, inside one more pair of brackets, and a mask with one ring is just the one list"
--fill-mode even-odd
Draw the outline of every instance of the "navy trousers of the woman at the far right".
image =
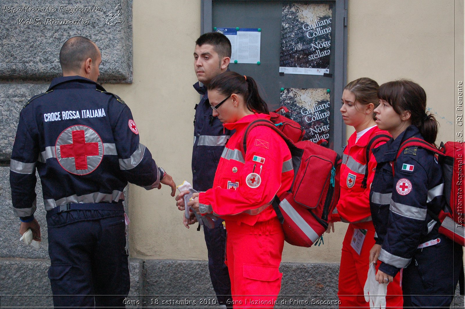
[[417, 249], [404, 269], [404, 308], [449, 308], [462, 271], [463, 247], [442, 234], [441, 242]]

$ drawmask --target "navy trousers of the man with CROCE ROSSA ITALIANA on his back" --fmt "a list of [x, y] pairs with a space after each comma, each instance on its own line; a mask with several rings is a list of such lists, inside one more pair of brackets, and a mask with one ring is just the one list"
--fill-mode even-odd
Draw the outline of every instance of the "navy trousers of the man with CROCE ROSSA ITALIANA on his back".
[[129, 293], [124, 213], [71, 210], [47, 216], [48, 277], [57, 307], [125, 307]]

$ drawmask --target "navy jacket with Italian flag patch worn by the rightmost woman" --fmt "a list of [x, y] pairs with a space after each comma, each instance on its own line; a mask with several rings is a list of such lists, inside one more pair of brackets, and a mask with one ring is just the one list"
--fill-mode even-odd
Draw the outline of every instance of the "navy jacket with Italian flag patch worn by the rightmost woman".
[[419, 244], [438, 237], [438, 224], [427, 210], [437, 215], [445, 205], [442, 170], [432, 152], [409, 147], [396, 160], [400, 145], [411, 137], [423, 139], [414, 125], [373, 149], [378, 165], [370, 208], [376, 243], [382, 245], [379, 270], [391, 276], [410, 263]]

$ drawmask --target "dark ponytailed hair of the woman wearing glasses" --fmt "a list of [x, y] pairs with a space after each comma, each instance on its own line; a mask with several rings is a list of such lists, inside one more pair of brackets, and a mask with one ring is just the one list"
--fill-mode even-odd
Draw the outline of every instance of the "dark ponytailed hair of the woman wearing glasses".
[[240, 93], [246, 102], [246, 107], [251, 112], [269, 114], [268, 105], [260, 97], [257, 84], [250, 76], [239, 75], [233, 71], [227, 71], [217, 75], [208, 84], [209, 91], [217, 90], [226, 96]]

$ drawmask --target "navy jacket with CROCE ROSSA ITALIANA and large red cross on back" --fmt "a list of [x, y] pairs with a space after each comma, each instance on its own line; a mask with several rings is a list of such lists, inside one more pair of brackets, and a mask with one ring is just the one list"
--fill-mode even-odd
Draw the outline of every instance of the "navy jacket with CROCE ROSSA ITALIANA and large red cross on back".
[[21, 110], [10, 164], [13, 211], [21, 219], [29, 220], [36, 209], [36, 169], [46, 210], [118, 203], [128, 181], [149, 190], [160, 176], [139, 143], [129, 107], [80, 76], [53, 79]]

